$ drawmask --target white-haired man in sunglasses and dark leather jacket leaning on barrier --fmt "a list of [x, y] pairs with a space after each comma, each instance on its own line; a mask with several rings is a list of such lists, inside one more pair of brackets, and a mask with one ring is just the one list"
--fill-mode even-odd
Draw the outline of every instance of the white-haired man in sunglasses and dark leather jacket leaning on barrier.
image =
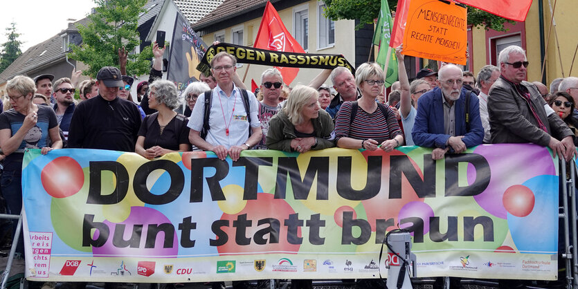
[[500, 77], [489, 90], [491, 142], [532, 142], [550, 147], [560, 158], [574, 155], [574, 133], [555, 113], [534, 84], [524, 81], [528, 62], [519, 46], [508, 46], [498, 56]]

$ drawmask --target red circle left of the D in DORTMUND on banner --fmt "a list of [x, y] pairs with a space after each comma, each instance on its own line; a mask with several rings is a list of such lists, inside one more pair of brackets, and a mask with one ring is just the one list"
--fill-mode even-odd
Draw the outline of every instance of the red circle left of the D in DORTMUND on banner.
[[84, 185], [84, 171], [73, 158], [61, 156], [44, 166], [40, 180], [49, 195], [66, 198], [80, 191]]

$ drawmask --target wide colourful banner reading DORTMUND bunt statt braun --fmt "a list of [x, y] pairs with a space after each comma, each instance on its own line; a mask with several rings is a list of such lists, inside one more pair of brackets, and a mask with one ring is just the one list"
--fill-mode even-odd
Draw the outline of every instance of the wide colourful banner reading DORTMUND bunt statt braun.
[[399, 225], [412, 234], [417, 277], [554, 280], [556, 164], [536, 145], [481, 145], [437, 161], [421, 147], [254, 150], [237, 162], [30, 150], [26, 276], [377, 278], [387, 276], [381, 243]]

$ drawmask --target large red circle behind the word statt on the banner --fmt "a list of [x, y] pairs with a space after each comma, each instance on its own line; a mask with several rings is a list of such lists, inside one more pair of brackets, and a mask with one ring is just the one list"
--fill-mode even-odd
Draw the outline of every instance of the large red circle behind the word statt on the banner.
[[[295, 237], [301, 237], [302, 230], [301, 227], [297, 227], [296, 234], [288, 237], [285, 220], [289, 219], [291, 214], [295, 214], [295, 211], [285, 200], [273, 198], [273, 194], [258, 193], [257, 200], [247, 201], [241, 212], [222, 215], [221, 220], [228, 221], [228, 225], [222, 225], [217, 230], [226, 234], [228, 241], [224, 245], [217, 246], [219, 254], [255, 252], [255, 250], [298, 252], [300, 245], [294, 244], [298, 243]], [[299, 217], [302, 221], [302, 216]], [[219, 241], [221, 238], [215, 239]], [[288, 240], [293, 243], [289, 243]]]

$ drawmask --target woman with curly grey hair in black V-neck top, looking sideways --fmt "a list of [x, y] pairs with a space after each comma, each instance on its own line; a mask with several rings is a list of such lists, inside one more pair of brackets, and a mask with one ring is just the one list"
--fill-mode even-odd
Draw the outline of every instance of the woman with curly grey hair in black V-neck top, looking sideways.
[[177, 86], [168, 80], [153, 82], [148, 102], [149, 108], [157, 112], [143, 120], [134, 151], [149, 160], [166, 153], [189, 151], [188, 119], [173, 111], [179, 106]]

